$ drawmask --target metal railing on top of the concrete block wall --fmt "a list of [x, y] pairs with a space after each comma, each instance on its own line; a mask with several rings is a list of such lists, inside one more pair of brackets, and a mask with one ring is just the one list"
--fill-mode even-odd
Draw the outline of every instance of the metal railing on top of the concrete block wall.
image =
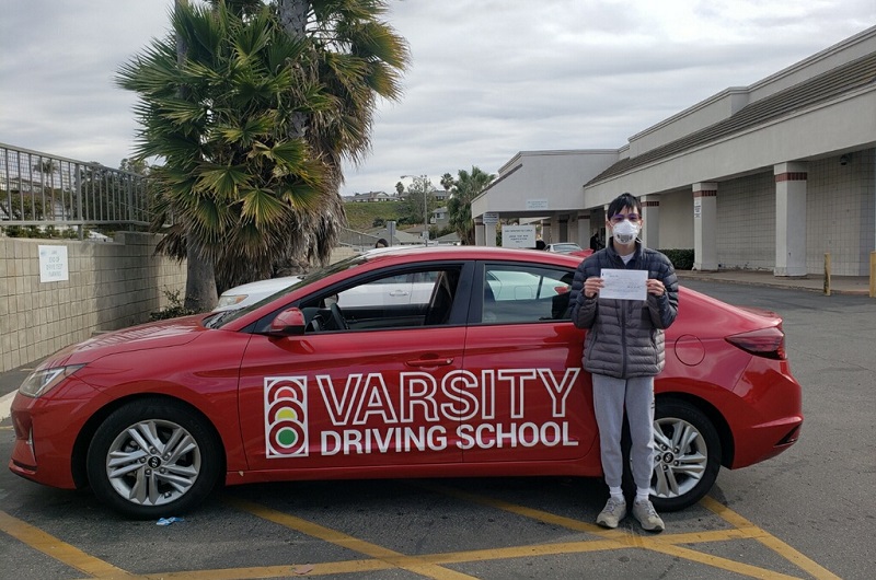
[[149, 178], [0, 143], [0, 227], [149, 225]]

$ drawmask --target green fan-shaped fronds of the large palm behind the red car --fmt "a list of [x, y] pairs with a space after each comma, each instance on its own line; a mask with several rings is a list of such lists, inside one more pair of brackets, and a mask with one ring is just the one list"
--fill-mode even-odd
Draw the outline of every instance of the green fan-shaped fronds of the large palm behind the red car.
[[[324, 3], [333, 4], [312, 5]], [[357, 3], [371, 2], [343, 2]], [[285, 259], [327, 260], [345, 220], [341, 159], [357, 159], [369, 142], [373, 83], [357, 73], [380, 66], [351, 66], [338, 81], [331, 71], [346, 70], [344, 54], [330, 53], [335, 45], [315, 32], [289, 35], [278, 8], [256, 0], [180, 3], [175, 37], [153, 42], [118, 74], [140, 95], [138, 155], [165, 161], [152, 171], [162, 190], [155, 225], [169, 216], [175, 225], [161, 247], [183, 257], [196, 244], [194, 257], [216, 265], [220, 288], [268, 277]], [[326, 69], [326, 61], [341, 63]], [[354, 90], [370, 101], [350, 105]], [[188, 294], [187, 287], [186, 306]]]

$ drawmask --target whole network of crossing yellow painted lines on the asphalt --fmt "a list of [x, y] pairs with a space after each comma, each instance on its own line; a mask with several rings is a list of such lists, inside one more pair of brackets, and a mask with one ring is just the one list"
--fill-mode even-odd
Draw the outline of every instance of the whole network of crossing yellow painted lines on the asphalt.
[[733, 540], [756, 540], [776, 555], [794, 564], [800, 570], [804, 570], [817, 580], [839, 579], [838, 576], [800, 554], [785, 542], [782, 542], [769, 532], [754, 525], [749, 520], [710, 497], [702, 499], [700, 503], [733, 527], [707, 532], [680, 534], [667, 534], [665, 532], [660, 535], [643, 535], [634, 532], [630, 527], [606, 530], [592, 523], [557, 515], [555, 513], [545, 512], [526, 506], [510, 503], [497, 498], [482, 496], [441, 484], [417, 482], [414, 485], [422, 489], [441, 494], [448, 497], [453, 497], [463, 501], [479, 503], [493, 509], [515, 513], [528, 519], [562, 526], [567, 530], [591, 534], [597, 536], [598, 540], [583, 540], [577, 542], [508, 546], [502, 548], [484, 548], [476, 550], [420, 554], [416, 556], [410, 556], [255, 502], [226, 497], [226, 503], [241, 511], [245, 511], [309, 536], [330, 542], [353, 552], [357, 552], [368, 556], [368, 558], [315, 564], [306, 562], [299, 565], [288, 564], [283, 566], [132, 575], [131, 572], [111, 565], [110, 562], [95, 558], [31, 524], [9, 515], [3, 511], [0, 511], [0, 531], [60, 561], [61, 564], [78, 569], [94, 578], [126, 577], [143, 579], [186, 578], [193, 580], [230, 580], [284, 577], [290, 575], [325, 576], [339, 573], [366, 573], [381, 570], [403, 569], [426, 578], [435, 578], [438, 580], [458, 578], [469, 579], [472, 577], [445, 568], [445, 566], [474, 561], [505, 560], [523, 557], [546, 557], [560, 556], [563, 554], [611, 552], [618, 549], [636, 548], [665, 554], [673, 558], [687, 559], [741, 576], [753, 578], [769, 577], [774, 579], [798, 578], [776, 572], [768, 568], [714, 556], [685, 546], [688, 544], [725, 542]]

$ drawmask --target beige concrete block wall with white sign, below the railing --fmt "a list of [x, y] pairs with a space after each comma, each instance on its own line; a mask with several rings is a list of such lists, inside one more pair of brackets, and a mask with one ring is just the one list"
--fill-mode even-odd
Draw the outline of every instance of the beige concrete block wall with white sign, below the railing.
[[[0, 237], [0, 372], [61, 348], [149, 322], [185, 293], [185, 264], [154, 256], [159, 236], [120, 232], [114, 242]], [[69, 279], [41, 282], [39, 246], [67, 247]]]

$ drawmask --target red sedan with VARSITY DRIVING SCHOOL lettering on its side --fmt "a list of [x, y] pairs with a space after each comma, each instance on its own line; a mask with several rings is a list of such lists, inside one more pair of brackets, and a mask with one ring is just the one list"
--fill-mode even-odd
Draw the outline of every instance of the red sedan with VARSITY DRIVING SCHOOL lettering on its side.
[[[219, 483], [599, 476], [584, 332], [569, 321], [579, 260], [397, 250], [246, 309], [92, 338], [22, 384], [10, 469], [90, 485], [132, 518], [181, 513]], [[370, 291], [400, 275], [428, 280], [428, 299]], [[338, 306], [345, 292], [355, 306]], [[682, 288], [666, 345], [652, 491], [658, 510], [677, 510], [722, 465], [791, 446], [803, 415], [775, 314]]]

